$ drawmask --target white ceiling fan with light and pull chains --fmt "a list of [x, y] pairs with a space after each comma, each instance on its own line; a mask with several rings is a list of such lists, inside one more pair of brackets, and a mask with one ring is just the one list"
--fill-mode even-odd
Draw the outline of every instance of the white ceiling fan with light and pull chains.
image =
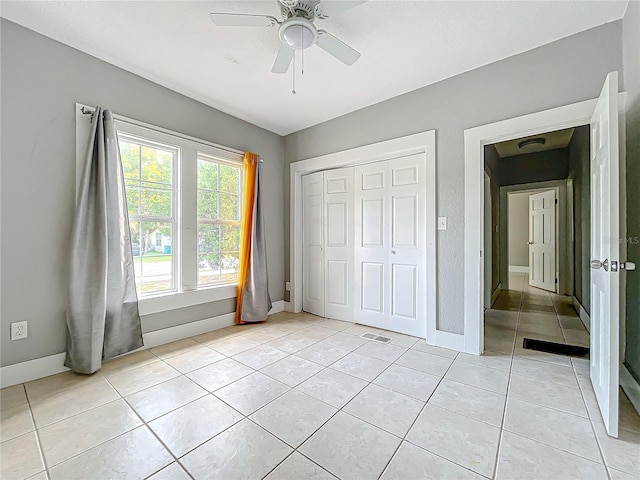
[[275, 27], [279, 26], [280, 49], [271, 71], [287, 73], [295, 50], [318, 45], [346, 65], [353, 65], [360, 53], [330, 33], [316, 28], [316, 19], [335, 17], [363, 1], [276, 0], [282, 21], [269, 15], [242, 13], [212, 13], [211, 21], [219, 27]]

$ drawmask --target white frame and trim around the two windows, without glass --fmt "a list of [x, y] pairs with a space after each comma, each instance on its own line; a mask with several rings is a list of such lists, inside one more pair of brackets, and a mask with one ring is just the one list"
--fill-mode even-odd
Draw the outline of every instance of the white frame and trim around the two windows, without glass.
[[[90, 115], [83, 112], [93, 109], [76, 103], [76, 193], [91, 132]], [[142, 296], [139, 299], [140, 314], [150, 315], [235, 298], [236, 284], [203, 285], [198, 289], [197, 157], [200, 152], [241, 167], [243, 152], [120, 115], [114, 115], [114, 119], [118, 131], [180, 149], [180, 159], [174, 174], [178, 199], [174, 212], [176, 232], [172, 234], [171, 250], [175, 261], [176, 291]]]

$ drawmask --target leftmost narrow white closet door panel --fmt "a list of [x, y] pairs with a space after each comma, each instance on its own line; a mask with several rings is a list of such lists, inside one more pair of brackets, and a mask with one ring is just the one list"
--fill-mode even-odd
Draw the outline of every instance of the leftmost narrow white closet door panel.
[[324, 198], [323, 172], [302, 177], [302, 309], [324, 317]]

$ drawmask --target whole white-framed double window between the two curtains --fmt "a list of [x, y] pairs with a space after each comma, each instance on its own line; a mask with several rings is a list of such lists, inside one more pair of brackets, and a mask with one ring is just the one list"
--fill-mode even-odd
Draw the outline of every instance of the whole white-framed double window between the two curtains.
[[142, 314], [235, 296], [242, 155], [116, 119]]

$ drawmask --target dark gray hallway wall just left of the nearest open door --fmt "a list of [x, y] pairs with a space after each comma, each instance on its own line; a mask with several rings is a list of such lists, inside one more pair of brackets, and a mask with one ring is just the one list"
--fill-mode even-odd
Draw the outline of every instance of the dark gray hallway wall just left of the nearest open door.
[[573, 180], [573, 295], [591, 311], [591, 187], [589, 125], [575, 129], [569, 143], [569, 178]]

